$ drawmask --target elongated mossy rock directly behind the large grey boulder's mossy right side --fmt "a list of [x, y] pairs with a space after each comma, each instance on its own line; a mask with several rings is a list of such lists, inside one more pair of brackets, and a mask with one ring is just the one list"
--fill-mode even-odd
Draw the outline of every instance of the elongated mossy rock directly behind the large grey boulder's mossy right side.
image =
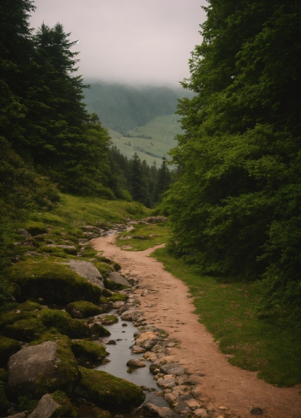
[[56, 328], [58, 332], [70, 338], [83, 338], [90, 335], [86, 321], [73, 319], [65, 311], [45, 309], [41, 312], [40, 320], [48, 329]]

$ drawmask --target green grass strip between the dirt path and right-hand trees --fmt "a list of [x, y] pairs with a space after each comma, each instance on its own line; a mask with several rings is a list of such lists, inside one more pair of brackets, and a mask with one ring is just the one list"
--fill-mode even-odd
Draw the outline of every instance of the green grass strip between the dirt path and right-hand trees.
[[183, 280], [194, 297], [199, 322], [213, 334], [221, 351], [233, 355], [229, 362], [266, 382], [290, 387], [300, 383], [299, 324], [286, 312], [259, 318], [259, 292], [254, 283], [231, 282], [195, 273], [193, 267], [158, 248], [151, 255], [165, 270]]

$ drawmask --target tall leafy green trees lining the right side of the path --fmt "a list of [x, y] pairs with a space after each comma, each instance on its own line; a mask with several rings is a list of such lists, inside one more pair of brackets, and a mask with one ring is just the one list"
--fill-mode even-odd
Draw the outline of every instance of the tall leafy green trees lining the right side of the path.
[[[260, 279], [259, 308], [296, 314], [299, 4], [209, 0], [180, 101], [182, 173], [164, 207], [177, 256], [206, 274]], [[282, 313], [281, 315], [283, 315]]]

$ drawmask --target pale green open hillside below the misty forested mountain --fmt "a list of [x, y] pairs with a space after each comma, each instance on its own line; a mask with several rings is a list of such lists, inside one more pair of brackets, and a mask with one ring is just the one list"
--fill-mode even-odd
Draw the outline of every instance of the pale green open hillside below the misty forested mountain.
[[113, 145], [116, 145], [123, 155], [132, 158], [137, 152], [141, 161], [145, 159], [149, 165], [156, 161], [157, 166], [160, 166], [163, 155], [170, 159], [167, 152], [177, 145], [175, 135], [183, 133], [178, 120], [179, 116], [175, 114], [157, 116], [144, 126], [128, 131], [125, 135], [129, 136], [126, 137], [112, 130], [109, 132]]

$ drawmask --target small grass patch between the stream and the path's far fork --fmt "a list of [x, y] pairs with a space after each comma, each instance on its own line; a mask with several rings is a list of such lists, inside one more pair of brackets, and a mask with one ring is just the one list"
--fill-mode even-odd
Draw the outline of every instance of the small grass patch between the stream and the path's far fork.
[[[127, 236], [132, 236], [133, 238], [120, 239]], [[155, 225], [135, 225], [135, 228], [131, 231], [120, 233], [116, 244], [120, 248], [125, 247], [124, 249], [127, 251], [143, 251], [155, 245], [166, 243], [169, 236], [170, 229], [166, 222]], [[131, 248], [126, 248], [128, 246]]]

